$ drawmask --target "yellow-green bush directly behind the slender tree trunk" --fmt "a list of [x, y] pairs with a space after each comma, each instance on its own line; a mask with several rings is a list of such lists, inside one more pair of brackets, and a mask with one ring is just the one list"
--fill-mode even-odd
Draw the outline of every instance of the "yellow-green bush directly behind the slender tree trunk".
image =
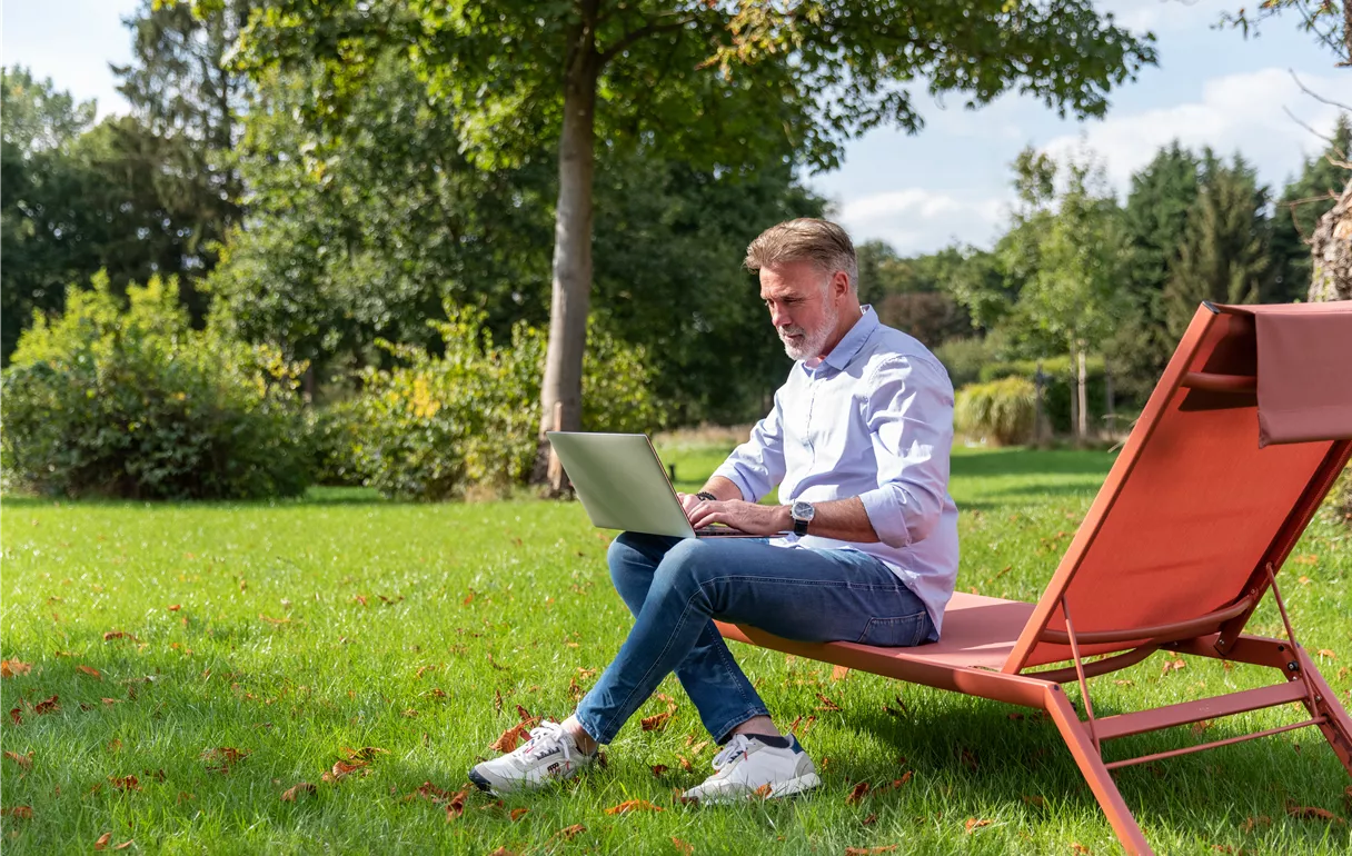
[[[358, 398], [358, 468], [387, 496], [453, 499], [469, 488], [523, 483], [535, 461], [545, 335], [516, 325], [508, 346], [484, 329], [484, 315], [448, 307], [431, 326], [439, 357], [384, 343], [404, 365], [368, 369]], [[583, 427], [649, 431], [662, 412], [649, 392], [644, 352], [588, 327], [583, 366]]]

